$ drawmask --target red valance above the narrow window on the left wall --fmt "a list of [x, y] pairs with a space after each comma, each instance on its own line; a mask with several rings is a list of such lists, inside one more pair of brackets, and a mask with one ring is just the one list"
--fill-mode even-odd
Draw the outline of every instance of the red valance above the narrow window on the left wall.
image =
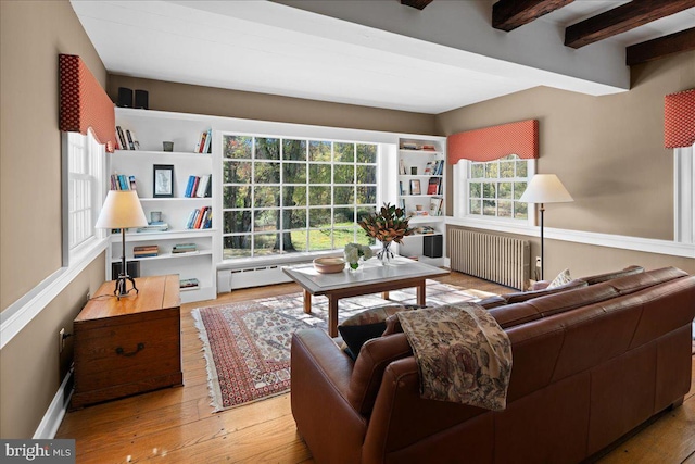
[[116, 127], [113, 102], [79, 57], [60, 54], [59, 71], [60, 129], [87, 135], [91, 128], [99, 143], [112, 152]]

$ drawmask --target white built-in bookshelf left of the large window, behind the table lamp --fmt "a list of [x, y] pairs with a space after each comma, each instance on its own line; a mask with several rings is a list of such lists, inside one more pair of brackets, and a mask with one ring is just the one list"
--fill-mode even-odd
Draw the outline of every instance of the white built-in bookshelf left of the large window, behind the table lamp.
[[[205, 116], [166, 113], [159, 111], [116, 109], [116, 125], [130, 130], [139, 142], [139, 150], [116, 150], [110, 154], [109, 174], [135, 177], [138, 197], [148, 221], [153, 213], [161, 213], [161, 222], [168, 225], [164, 231], [136, 231], [126, 234], [126, 258], [139, 263], [140, 276], [178, 274], [182, 281], [195, 279], [198, 285], [181, 288], [181, 301], [201, 301], [216, 298], [215, 266], [219, 247], [216, 247], [216, 227], [219, 216], [213, 211], [214, 191], [207, 197], [187, 197], [191, 178], [213, 176], [212, 153], [194, 152], [201, 135], [212, 127], [211, 118]], [[163, 142], [174, 143], [173, 151], [164, 151]], [[211, 151], [212, 148], [211, 148]], [[154, 166], [173, 170], [172, 196], [155, 197]], [[214, 178], [212, 179], [214, 185]], [[203, 192], [201, 191], [201, 195]], [[210, 228], [190, 227], [189, 220], [194, 212], [212, 213]], [[200, 214], [200, 213], [199, 213]], [[202, 216], [201, 216], [202, 217]], [[154, 223], [156, 224], [156, 223]], [[121, 235], [111, 237], [106, 273], [111, 276], [112, 263], [122, 255]], [[177, 244], [194, 244], [194, 251], [175, 253]], [[156, 256], [137, 258], [136, 247], [157, 246]], [[115, 276], [111, 276], [114, 278]], [[193, 280], [194, 281], [194, 280]]]

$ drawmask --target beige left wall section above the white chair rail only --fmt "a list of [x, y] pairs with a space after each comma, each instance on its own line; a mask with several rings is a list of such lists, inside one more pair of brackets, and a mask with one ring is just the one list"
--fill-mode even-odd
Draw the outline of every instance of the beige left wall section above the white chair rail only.
[[0, 311], [61, 267], [59, 53], [106, 72], [70, 2], [0, 2]]

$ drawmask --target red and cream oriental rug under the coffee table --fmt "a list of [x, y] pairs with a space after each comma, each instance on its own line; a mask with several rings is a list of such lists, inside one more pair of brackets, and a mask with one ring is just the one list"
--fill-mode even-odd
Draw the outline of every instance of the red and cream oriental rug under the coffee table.
[[[427, 284], [429, 305], [476, 301], [490, 294], [433, 280]], [[416, 300], [415, 289], [389, 296], [390, 301], [406, 304]], [[339, 321], [383, 304], [388, 301], [378, 294], [341, 300]], [[298, 292], [193, 310], [215, 412], [289, 391], [292, 334], [307, 327], [327, 330], [327, 308], [326, 297], [315, 297], [312, 313], [304, 313], [302, 293]]]

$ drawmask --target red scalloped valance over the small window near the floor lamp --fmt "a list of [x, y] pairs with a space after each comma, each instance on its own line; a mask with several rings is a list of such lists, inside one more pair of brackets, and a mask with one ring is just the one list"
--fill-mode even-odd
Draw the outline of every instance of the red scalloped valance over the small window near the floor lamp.
[[519, 121], [482, 129], [467, 130], [446, 138], [450, 164], [459, 160], [492, 161], [508, 154], [539, 158], [539, 122]]

